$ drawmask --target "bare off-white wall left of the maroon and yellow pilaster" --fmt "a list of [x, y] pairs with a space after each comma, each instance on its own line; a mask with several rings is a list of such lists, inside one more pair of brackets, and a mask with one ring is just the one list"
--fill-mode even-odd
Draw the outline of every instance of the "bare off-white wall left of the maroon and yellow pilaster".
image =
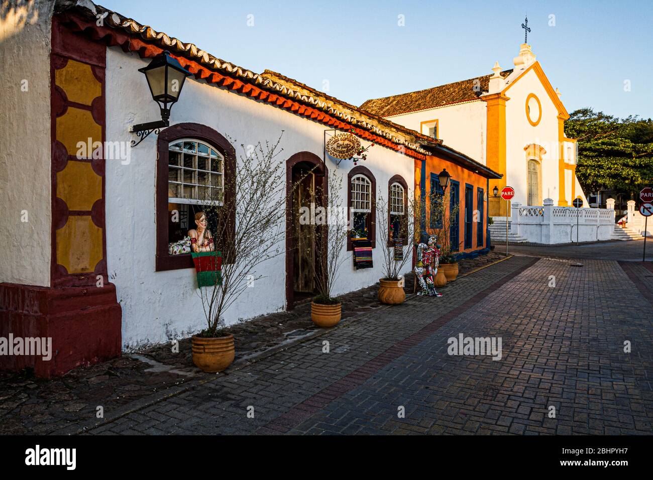
[[[50, 285], [52, 2], [0, 16], [0, 282]], [[27, 219], [27, 221], [24, 221]]]

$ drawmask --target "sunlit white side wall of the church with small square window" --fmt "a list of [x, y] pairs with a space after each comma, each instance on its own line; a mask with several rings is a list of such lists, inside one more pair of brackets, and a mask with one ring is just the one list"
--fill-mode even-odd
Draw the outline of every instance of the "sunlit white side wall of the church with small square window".
[[458, 103], [441, 108], [430, 108], [388, 117], [399, 125], [428, 135], [420, 130], [422, 121], [438, 120], [438, 138], [448, 147], [465, 153], [479, 163], [486, 164], [487, 104], [485, 101]]

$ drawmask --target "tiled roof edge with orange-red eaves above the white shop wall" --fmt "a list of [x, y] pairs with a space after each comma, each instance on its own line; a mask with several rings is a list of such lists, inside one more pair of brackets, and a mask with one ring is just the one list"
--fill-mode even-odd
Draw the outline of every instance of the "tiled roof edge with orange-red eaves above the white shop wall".
[[[208, 54], [195, 44], [185, 43], [174, 37], [169, 37], [165, 33], [155, 31], [148, 25], [139, 24], [131, 18], [126, 18], [112, 10], [95, 5], [91, 1], [62, 0], [57, 5], [59, 5], [59, 8], [56, 9], [57, 13], [76, 10], [83, 16], [88, 17], [88, 20], [81, 21], [74, 16], [69, 16], [67, 20], [74, 24], [77, 31], [83, 31], [91, 38], [98, 39], [106, 35], [106, 32], [102, 31], [105, 27], [127, 34], [127, 37], [102, 37], [106, 44], [110, 46], [119, 45], [125, 52], [135, 50], [140, 56], [146, 56], [147, 52], [143, 51], [147, 50], [147, 48], [143, 47], [146, 44], [153, 44], [158, 48], [170, 50], [172, 55], [178, 57], [178, 59], [188, 59], [197, 65], [191, 67], [186, 61], [182, 63], [182, 66], [190, 69], [196, 78], [202, 78], [210, 83], [221, 84], [234, 89], [234, 91], [246, 93], [250, 97], [268, 103], [275, 102], [298, 115], [310, 115], [311, 119], [323, 121], [328, 125], [336, 125], [340, 128], [351, 125], [356, 127], [357, 135], [362, 136], [362, 138], [394, 150], [404, 151], [406, 155], [412, 157], [423, 159], [424, 155], [430, 154], [430, 150], [441, 147], [441, 140], [422, 135], [417, 131], [381, 118], [381, 116], [374, 113], [362, 110], [360, 107], [330, 97], [279, 73], [268, 70], [263, 74], [258, 74], [238, 67], [238, 65]], [[104, 27], [97, 26], [97, 14], [103, 16]], [[142, 42], [140, 40], [130, 40], [133, 38], [140, 38]], [[404, 146], [406, 147], [405, 150]], [[486, 172], [486, 176], [500, 178], [499, 174], [485, 167], [485, 165], [481, 165], [466, 155], [460, 154], [460, 156], [464, 157], [462, 159], [464, 162]]]

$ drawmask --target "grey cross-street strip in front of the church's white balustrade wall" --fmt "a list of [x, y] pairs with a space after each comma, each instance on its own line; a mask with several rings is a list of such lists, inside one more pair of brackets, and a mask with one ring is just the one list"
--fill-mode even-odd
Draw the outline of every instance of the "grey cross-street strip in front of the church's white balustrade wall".
[[[591, 244], [530, 246], [510, 244], [511, 255], [532, 255], [534, 257], [551, 257], [558, 259], [594, 259], [618, 261], [642, 261], [644, 240], [614, 240], [613, 242], [596, 242]], [[505, 243], [497, 244], [495, 251], [505, 253]], [[646, 261], [653, 262], [653, 238], [646, 239]]]

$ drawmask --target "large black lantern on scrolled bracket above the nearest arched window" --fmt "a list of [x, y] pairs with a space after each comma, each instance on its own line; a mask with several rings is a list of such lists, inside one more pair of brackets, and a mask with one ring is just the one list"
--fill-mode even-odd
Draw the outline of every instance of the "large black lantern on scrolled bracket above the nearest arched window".
[[143, 72], [148, 80], [152, 99], [161, 109], [161, 120], [133, 125], [129, 131], [136, 133], [140, 140], [138, 142], [132, 140], [132, 146], [138, 145], [153, 131], [158, 134], [159, 129], [170, 125], [170, 108], [178, 101], [186, 77], [191, 75], [191, 72], [184, 69], [177, 59], [170, 56], [168, 50], [155, 56], [150, 65], [138, 71]]

